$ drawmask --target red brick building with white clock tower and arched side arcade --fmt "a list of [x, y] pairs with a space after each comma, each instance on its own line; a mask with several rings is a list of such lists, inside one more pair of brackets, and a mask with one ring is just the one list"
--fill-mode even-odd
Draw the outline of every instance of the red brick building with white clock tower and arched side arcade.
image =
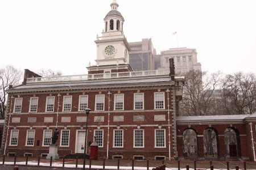
[[174, 77], [173, 60], [169, 70], [133, 71], [124, 19], [116, 1], [111, 7], [88, 75], [25, 70], [9, 88], [2, 154], [46, 156], [55, 128], [60, 156], [83, 153], [90, 108], [86, 143], [96, 137], [99, 158], [255, 160], [256, 113], [180, 117], [183, 78]]

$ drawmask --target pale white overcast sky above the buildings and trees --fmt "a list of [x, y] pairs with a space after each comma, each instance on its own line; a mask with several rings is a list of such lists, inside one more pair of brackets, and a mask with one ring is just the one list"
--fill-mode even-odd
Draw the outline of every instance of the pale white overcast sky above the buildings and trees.
[[[117, 0], [128, 42], [195, 48], [202, 70], [256, 73], [256, 1]], [[0, 0], [0, 67], [87, 74], [112, 0]]]

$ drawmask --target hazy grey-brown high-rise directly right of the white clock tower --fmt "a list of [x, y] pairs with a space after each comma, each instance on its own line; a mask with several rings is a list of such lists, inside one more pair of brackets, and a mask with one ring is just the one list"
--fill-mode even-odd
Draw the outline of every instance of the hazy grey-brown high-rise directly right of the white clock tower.
[[151, 39], [129, 42], [130, 66], [134, 71], [155, 70], [156, 50]]

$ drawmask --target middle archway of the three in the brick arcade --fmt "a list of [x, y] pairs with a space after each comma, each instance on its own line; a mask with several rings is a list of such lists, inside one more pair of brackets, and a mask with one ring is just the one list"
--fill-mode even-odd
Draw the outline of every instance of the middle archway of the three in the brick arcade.
[[204, 156], [216, 157], [218, 155], [218, 131], [209, 127], [203, 132]]

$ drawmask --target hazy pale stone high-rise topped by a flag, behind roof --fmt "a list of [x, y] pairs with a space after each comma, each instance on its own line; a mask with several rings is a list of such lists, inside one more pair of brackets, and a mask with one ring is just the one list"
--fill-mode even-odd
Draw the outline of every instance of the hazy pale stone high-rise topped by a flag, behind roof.
[[174, 58], [176, 74], [181, 74], [189, 70], [201, 71], [201, 63], [197, 62], [196, 49], [170, 48], [162, 51], [160, 54], [160, 67], [158, 69], [168, 68], [169, 58]]

